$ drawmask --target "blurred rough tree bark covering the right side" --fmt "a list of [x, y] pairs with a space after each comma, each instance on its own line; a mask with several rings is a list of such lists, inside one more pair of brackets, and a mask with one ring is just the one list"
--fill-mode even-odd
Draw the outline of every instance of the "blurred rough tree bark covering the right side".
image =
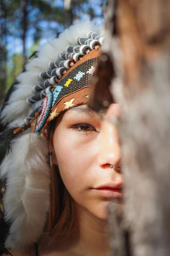
[[[169, 0], [108, 1], [103, 51], [115, 69], [110, 91], [122, 108], [122, 225], [135, 256], [170, 255], [169, 10]], [[91, 107], [99, 111], [102, 101], [101, 107], [91, 101]]]

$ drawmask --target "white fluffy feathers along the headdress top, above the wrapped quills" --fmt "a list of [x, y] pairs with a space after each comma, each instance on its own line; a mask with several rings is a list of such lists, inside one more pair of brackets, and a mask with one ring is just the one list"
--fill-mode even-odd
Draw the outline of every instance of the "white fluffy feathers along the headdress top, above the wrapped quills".
[[20, 84], [16, 85], [16, 90], [9, 97], [8, 105], [1, 112], [2, 124], [7, 125], [18, 117], [23, 119], [33, 111], [34, 104], [26, 103], [27, 97], [33, 95], [32, 87], [43, 81], [39, 78], [39, 73], [49, 69], [49, 62], [58, 60], [58, 54], [65, 51], [69, 45], [77, 45], [76, 37], [86, 37], [89, 31], [100, 34], [100, 27], [93, 21], [87, 19], [69, 28], [55, 38], [45, 43], [37, 53], [38, 58], [34, 58], [26, 65], [26, 71], [17, 77]]

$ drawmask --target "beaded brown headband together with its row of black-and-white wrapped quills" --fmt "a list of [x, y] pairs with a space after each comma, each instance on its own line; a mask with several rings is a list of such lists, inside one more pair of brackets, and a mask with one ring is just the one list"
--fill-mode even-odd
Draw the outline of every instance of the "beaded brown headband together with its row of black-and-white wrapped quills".
[[43, 81], [32, 87], [34, 95], [28, 97], [26, 103], [32, 105], [42, 100], [43, 102], [24, 119], [25, 124], [17, 128], [14, 134], [29, 128], [29, 122], [35, 117], [33, 130], [40, 131], [62, 111], [88, 100], [88, 90], [85, 88], [89, 87], [91, 76], [99, 61], [99, 48], [103, 40], [104, 36], [94, 32], [88, 32], [87, 38], [77, 37], [79, 45], [67, 46], [65, 52], [59, 53], [60, 60], [49, 63], [50, 70], [39, 73], [38, 76]]

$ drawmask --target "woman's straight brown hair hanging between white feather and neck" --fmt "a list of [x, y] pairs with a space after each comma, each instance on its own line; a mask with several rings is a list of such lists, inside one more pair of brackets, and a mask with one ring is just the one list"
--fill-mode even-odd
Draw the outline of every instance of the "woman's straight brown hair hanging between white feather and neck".
[[[47, 126], [48, 141], [50, 134], [54, 133], [56, 118]], [[53, 164], [49, 154], [51, 168], [50, 205], [46, 231], [50, 235], [68, 235], [74, 228], [73, 198], [68, 193], [61, 178], [59, 168]]]

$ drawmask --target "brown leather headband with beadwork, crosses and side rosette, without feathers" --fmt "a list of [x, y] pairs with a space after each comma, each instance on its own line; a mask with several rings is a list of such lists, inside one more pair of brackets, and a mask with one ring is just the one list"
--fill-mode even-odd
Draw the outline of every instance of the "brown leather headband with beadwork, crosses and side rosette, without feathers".
[[65, 73], [53, 91], [47, 93], [37, 118], [36, 131], [41, 130], [62, 111], [88, 100], [88, 87], [100, 54], [100, 50], [92, 50]]

